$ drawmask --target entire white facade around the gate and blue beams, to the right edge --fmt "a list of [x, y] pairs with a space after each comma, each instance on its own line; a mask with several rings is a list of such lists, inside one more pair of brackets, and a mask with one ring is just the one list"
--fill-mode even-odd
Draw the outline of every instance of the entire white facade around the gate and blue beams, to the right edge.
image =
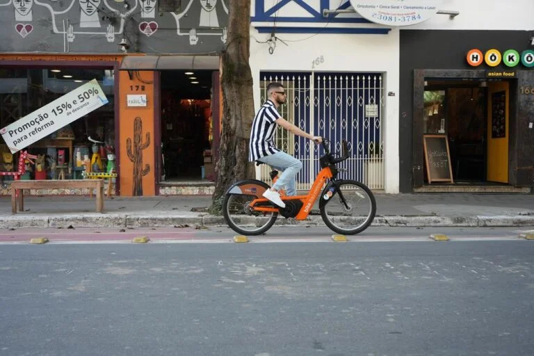
[[[345, 1], [342, 1], [345, 2]], [[254, 16], [252, 0], [252, 16]], [[266, 7], [273, 6], [277, 1], [266, 0]], [[318, 10], [318, 0], [306, 1], [309, 6]], [[331, 8], [339, 1], [330, 1]], [[291, 5], [291, 3], [289, 3]], [[413, 26], [393, 28], [387, 35], [368, 34], [286, 34], [276, 33], [280, 41], [271, 55], [268, 44], [258, 43], [268, 40], [270, 35], [258, 33], [254, 26], [273, 26], [272, 22], [254, 23], [251, 26], [250, 67], [254, 78], [254, 103], [258, 108], [259, 72], [260, 71], [312, 71], [312, 60], [319, 56], [325, 58], [324, 63], [316, 67], [316, 71], [342, 72], [382, 72], [385, 77], [385, 191], [398, 193], [399, 156], [398, 156], [398, 88], [399, 88], [399, 29], [444, 29], [444, 30], [534, 30], [534, 0], [443, 0], [440, 10], [460, 12], [450, 19], [448, 15], [435, 15], [426, 22]], [[286, 6], [279, 10], [278, 16], [302, 16], [302, 8]], [[357, 14], [343, 17], [359, 17]], [[323, 24], [313, 22], [277, 23], [282, 26], [312, 26], [322, 28], [328, 26], [338, 28], [387, 28], [378, 24]], [[395, 96], [389, 97], [388, 92]]]

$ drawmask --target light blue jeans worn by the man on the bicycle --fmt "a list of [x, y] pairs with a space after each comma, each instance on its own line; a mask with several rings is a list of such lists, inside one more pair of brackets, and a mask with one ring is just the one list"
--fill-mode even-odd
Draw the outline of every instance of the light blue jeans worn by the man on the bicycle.
[[270, 165], [275, 170], [283, 171], [282, 175], [278, 177], [276, 183], [273, 185], [273, 188], [280, 191], [285, 186], [286, 195], [297, 195], [297, 182], [295, 177], [302, 169], [302, 162], [282, 151], [261, 157], [258, 161]]

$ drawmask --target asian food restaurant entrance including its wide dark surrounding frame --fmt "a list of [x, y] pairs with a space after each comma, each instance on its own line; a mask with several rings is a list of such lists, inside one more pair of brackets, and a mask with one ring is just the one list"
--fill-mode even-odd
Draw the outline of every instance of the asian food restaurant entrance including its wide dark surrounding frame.
[[[528, 73], [494, 78], [485, 70], [414, 70], [414, 192], [524, 191], [517, 186], [519, 156], [513, 148], [524, 133], [517, 128], [526, 99], [518, 83]], [[446, 140], [451, 179], [428, 179], [428, 154], [443, 156], [426, 149], [429, 134]], [[437, 178], [449, 178], [448, 171], [442, 168]]]

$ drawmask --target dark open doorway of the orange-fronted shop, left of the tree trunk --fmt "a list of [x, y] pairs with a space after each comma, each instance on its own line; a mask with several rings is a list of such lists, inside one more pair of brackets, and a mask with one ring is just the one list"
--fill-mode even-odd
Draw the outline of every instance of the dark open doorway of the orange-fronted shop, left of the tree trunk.
[[213, 179], [212, 70], [161, 71], [161, 181]]

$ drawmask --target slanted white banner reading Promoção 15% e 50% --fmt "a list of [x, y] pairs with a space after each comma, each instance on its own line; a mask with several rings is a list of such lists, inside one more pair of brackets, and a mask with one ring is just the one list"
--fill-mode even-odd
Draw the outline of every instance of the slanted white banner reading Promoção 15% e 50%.
[[0, 129], [11, 153], [28, 147], [83, 115], [108, 104], [96, 79]]

